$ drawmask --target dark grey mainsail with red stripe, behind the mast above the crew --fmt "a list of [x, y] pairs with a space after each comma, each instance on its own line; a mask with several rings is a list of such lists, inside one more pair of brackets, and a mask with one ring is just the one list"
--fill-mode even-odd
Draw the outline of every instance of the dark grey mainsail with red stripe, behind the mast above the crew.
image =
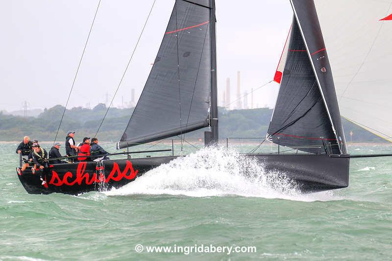
[[146, 85], [118, 148], [211, 125], [214, 60], [214, 1], [176, 0]]

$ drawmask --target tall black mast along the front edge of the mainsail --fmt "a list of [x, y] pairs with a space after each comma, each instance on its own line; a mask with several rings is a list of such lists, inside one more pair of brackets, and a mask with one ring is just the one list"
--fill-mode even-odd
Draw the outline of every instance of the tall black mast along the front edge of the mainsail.
[[210, 111], [210, 125], [211, 125], [211, 143], [218, 144], [218, 98], [217, 98], [217, 45], [215, 35], [215, 0], [210, 0], [210, 30], [211, 30], [211, 111]]

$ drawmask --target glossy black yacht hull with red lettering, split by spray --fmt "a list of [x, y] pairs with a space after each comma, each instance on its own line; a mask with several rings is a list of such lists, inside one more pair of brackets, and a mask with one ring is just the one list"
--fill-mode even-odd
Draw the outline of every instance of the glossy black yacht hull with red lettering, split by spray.
[[[265, 166], [293, 180], [303, 192], [341, 189], [348, 186], [349, 158], [315, 154], [247, 154]], [[103, 162], [52, 165], [45, 171], [32, 173], [26, 169], [19, 180], [31, 194], [53, 192], [77, 195], [88, 191], [120, 188], [138, 176], [177, 156], [151, 157]], [[42, 184], [42, 180], [46, 181]]]

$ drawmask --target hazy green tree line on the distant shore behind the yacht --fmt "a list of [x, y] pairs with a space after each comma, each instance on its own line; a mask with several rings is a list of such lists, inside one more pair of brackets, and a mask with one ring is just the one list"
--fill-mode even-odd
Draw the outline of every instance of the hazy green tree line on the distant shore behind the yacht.
[[[74, 107], [67, 109], [62, 120], [57, 141], [65, 140], [69, 130], [76, 131], [76, 137], [94, 137], [107, 108], [98, 104], [93, 109]], [[21, 116], [0, 113], [0, 141], [19, 141], [25, 135], [39, 141], [52, 141], [62, 117], [64, 107], [56, 105], [44, 110], [38, 117], [24, 118]], [[117, 142], [123, 135], [133, 108], [110, 108], [97, 135], [100, 141]], [[261, 138], [265, 137], [272, 109], [258, 108], [249, 110], [226, 110], [219, 108], [219, 135], [225, 137]], [[384, 142], [383, 139], [367, 130], [343, 119], [343, 129], [348, 142]], [[202, 130], [186, 135], [186, 138], [203, 138]], [[350, 132], [353, 133], [352, 139]]]

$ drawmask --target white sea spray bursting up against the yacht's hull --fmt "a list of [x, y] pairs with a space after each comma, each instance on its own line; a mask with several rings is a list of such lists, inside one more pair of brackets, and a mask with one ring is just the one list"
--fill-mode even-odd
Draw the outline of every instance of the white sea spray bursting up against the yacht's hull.
[[158, 166], [134, 182], [105, 193], [286, 198], [299, 191], [284, 173], [266, 172], [263, 164], [251, 156], [209, 147]]

